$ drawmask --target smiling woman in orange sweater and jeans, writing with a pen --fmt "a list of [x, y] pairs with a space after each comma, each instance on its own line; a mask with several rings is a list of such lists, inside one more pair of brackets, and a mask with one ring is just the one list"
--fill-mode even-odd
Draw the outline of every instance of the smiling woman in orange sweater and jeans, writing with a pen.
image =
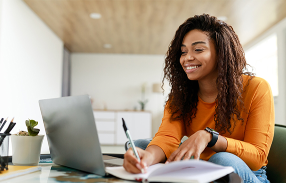
[[[244, 181], [269, 182], [273, 97], [267, 81], [246, 71], [233, 28], [208, 14], [189, 18], [176, 31], [165, 61], [164, 79], [172, 88], [162, 124], [145, 150], [137, 148], [140, 163], [127, 150], [124, 168], [138, 173], [194, 156], [233, 166]], [[184, 135], [189, 138], [179, 146]]]

